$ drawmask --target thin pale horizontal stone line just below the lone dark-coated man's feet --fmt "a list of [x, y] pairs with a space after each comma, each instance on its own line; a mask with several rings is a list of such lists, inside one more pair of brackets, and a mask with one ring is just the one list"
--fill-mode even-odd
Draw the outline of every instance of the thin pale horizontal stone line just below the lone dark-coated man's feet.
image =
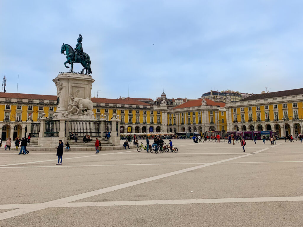
[[[303, 161], [268, 161], [268, 162], [225, 162], [218, 164], [244, 164], [244, 163], [295, 163]], [[63, 168], [63, 167], [94, 167], [94, 166], [158, 166], [158, 165], [198, 165], [208, 163], [146, 163], [146, 164], [104, 164], [104, 165], [78, 165], [78, 166], [9, 166], [0, 167], [0, 169], [9, 168]]]

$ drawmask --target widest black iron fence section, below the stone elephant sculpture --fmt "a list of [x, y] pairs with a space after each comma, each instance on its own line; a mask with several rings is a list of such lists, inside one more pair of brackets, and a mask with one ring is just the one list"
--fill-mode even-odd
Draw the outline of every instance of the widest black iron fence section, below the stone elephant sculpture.
[[69, 121], [68, 137], [71, 133], [77, 133], [78, 137], [88, 134], [91, 137], [101, 136], [101, 121], [97, 120], [71, 120]]

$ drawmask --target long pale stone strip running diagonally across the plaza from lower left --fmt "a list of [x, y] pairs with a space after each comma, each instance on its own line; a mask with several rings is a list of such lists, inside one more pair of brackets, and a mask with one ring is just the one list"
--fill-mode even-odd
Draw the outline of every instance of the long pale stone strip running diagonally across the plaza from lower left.
[[40, 203], [40, 206], [37, 207], [37, 208], [15, 209], [15, 210], [7, 211], [7, 212], [2, 212], [2, 213], [0, 213], [0, 220], [12, 218], [12, 217], [15, 217], [15, 216], [19, 216], [19, 215], [22, 215], [22, 214], [27, 214], [27, 213], [38, 211], [38, 210], [42, 210], [42, 209], [45, 209], [45, 208], [48, 208], [48, 207], [58, 206], [58, 205], [68, 203], [68, 202], [74, 202], [74, 201], [77, 201], [77, 200], [80, 200], [80, 199], [85, 199], [85, 198], [92, 197], [92, 196], [97, 196], [97, 195], [100, 195], [100, 194], [104, 194], [106, 192], [112, 192], [112, 191], [115, 191], [115, 190], [118, 190], [118, 189], [123, 189], [123, 188], [127, 188], [127, 187], [130, 187], [130, 186], [135, 186], [135, 185], [138, 185], [138, 184], [150, 182], [150, 181], [153, 181], [153, 180], [158, 180], [158, 179], [165, 178], [165, 177], [168, 177], [168, 176], [174, 176], [174, 175], [177, 175], [177, 174], [180, 174], [180, 173], [186, 173], [186, 172], [189, 172], [189, 171], [192, 171], [192, 170], [195, 170], [195, 169], [201, 169], [203, 167], [212, 166], [212, 165], [215, 165], [215, 164], [218, 164], [218, 163], [228, 162], [228, 161], [235, 160], [235, 159], [238, 159], [238, 158], [251, 156], [253, 154], [260, 153], [262, 151], [268, 150], [268, 149], [270, 149], [272, 147], [275, 147], [275, 146], [278, 146], [278, 144], [274, 145], [274, 146], [271, 146], [271, 147], [264, 148], [262, 150], [255, 151], [255, 152], [250, 153], [250, 154], [243, 154], [243, 155], [240, 155], [240, 156], [236, 156], [236, 157], [229, 158], [229, 159], [224, 159], [224, 160], [221, 160], [221, 161], [216, 161], [216, 162], [212, 162], [212, 163], [208, 163], [208, 164], [194, 166], [194, 167], [190, 167], [190, 168], [186, 168], [186, 169], [173, 171], [173, 172], [170, 172], [170, 173], [164, 173], [164, 174], [160, 174], [160, 175], [157, 175], [157, 176], [148, 177], [148, 178], [145, 178], [145, 179], [135, 180], [135, 181], [128, 182], [128, 183], [123, 183], [123, 184], [119, 184], [119, 185], [115, 185], [115, 186], [110, 186], [110, 187], [107, 187], [107, 188], [97, 189], [97, 190], [94, 190], [94, 191], [91, 191], [91, 192], [84, 192], [84, 193], [74, 195], [74, 196], [68, 196], [68, 197], [61, 198], [61, 199], [55, 199], [55, 200], [52, 200], [52, 201], [43, 202], [43, 203]]

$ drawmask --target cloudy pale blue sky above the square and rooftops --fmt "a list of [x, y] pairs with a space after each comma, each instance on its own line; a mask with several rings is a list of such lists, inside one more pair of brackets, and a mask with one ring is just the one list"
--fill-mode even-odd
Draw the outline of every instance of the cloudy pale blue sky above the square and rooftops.
[[[92, 96], [198, 98], [209, 90], [301, 88], [302, 1], [14, 1], [0, 3], [7, 92], [56, 94], [60, 53], [79, 34]], [[154, 45], [152, 45], [154, 44]], [[74, 71], [82, 66], [76, 64]]]

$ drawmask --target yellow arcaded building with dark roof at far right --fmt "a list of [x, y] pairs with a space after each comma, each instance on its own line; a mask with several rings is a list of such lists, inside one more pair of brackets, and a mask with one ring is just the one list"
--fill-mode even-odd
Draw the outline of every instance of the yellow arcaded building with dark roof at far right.
[[255, 94], [227, 102], [230, 131], [276, 131], [279, 136], [301, 133], [303, 89]]

